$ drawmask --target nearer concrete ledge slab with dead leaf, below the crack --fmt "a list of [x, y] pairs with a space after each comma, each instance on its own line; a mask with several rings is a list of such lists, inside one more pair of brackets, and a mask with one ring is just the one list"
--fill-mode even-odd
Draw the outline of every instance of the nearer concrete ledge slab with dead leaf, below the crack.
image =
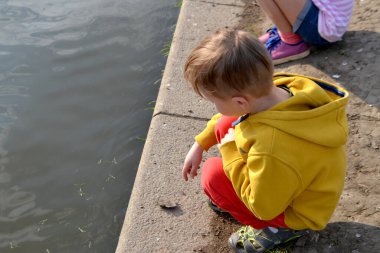
[[[204, 124], [165, 115], [153, 118], [116, 252], [192, 252], [207, 244], [201, 235], [209, 231], [212, 213], [199, 178], [185, 184], [180, 173], [186, 143]], [[160, 200], [177, 207], [164, 209]]]

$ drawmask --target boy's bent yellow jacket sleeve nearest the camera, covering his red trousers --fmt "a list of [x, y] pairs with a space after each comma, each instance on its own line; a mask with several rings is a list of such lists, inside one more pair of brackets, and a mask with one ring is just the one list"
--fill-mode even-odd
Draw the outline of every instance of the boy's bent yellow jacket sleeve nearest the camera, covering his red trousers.
[[220, 150], [224, 171], [236, 194], [257, 218], [274, 219], [291, 204], [301, 187], [292, 168], [266, 154], [250, 154], [245, 162], [235, 142], [222, 145]]

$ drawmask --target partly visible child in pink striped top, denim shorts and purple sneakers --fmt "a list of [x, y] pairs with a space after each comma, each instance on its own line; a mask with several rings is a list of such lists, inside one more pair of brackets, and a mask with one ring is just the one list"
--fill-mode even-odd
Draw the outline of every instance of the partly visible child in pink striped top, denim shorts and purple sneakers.
[[257, 0], [275, 26], [259, 38], [274, 64], [306, 57], [309, 45], [327, 46], [342, 39], [354, 0]]

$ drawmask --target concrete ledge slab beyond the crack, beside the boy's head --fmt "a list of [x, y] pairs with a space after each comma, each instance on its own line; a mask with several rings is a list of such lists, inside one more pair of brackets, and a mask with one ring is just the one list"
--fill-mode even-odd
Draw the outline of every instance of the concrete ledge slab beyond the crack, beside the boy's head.
[[[219, 2], [219, 4], [214, 3]], [[223, 3], [223, 4], [220, 4]], [[238, 5], [239, 4], [239, 5]], [[190, 51], [218, 28], [233, 27], [243, 4], [234, 0], [184, 1], [161, 82], [156, 111], [194, 117], [210, 117], [210, 104], [190, 91], [183, 79], [183, 65]], [[191, 112], [189, 110], [191, 109]]]

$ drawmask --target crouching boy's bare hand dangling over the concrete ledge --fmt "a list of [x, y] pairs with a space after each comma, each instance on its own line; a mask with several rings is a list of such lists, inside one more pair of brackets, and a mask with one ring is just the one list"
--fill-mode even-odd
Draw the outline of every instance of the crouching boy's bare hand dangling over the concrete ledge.
[[197, 175], [199, 165], [202, 161], [203, 148], [199, 146], [197, 142], [194, 142], [193, 146], [187, 153], [185, 162], [182, 168], [182, 175], [185, 181], [188, 180], [189, 176], [194, 178]]

